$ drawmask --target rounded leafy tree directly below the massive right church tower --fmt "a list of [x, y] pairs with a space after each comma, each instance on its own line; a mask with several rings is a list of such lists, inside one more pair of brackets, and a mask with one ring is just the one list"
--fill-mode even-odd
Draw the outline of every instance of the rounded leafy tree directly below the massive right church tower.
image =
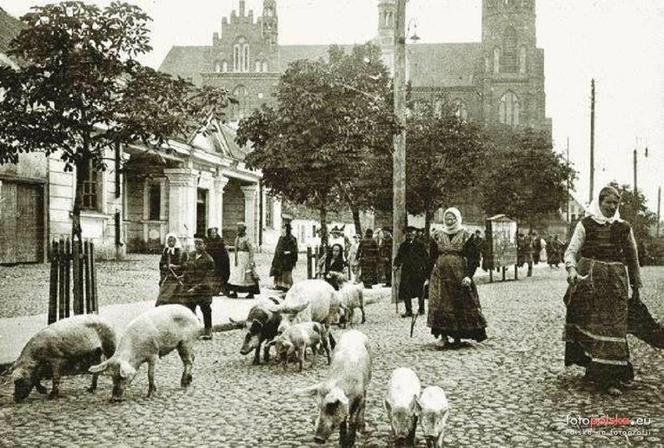
[[556, 212], [567, 201], [567, 182], [576, 172], [556, 154], [545, 132], [531, 128], [489, 128], [491, 157], [480, 182], [482, 206], [490, 214], [528, 222]]

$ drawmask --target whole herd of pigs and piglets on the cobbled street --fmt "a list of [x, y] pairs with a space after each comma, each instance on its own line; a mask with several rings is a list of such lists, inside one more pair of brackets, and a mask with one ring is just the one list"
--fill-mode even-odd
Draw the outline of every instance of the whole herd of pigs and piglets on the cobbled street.
[[[302, 370], [307, 349], [311, 349], [312, 365], [316, 354], [325, 352], [329, 364], [327, 379], [298, 392], [318, 400], [314, 441], [325, 443], [338, 430], [340, 446], [351, 447], [356, 432], [364, 429], [371, 349], [362, 332], [350, 329], [335, 341], [330, 327], [352, 326], [355, 309], [361, 311], [364, 323], [364, 305], [370, 300], [363, 297], [361, 286], [339, 281], [338, 291], [323, 280], [296, 283], [284, 298], [260, 300], [246, 321], [234, 325], [247, 329], [240, 353], [255, 351], [255, 364], [261, 362], [261, 346], [264, 361], [269, 361], [270, 349], [274, 347], [276, 360], [283, 362], [285, 369], [294, 360]], [[45, 394], [41, 377], [48, 367], [53, 381], [50, 396], [57, 397], [62, 373], [72, 364], [89, 366], [91, 392], [97, 387], [99, 374], [111, 376], [111, 401], [119, 401], [140, 366], [147, 363], [151, 396], [156, 391], [157, 360], [173, 350], [177, 350], [184, 365], [180, 385], [187, 387], [193, 378], [194, 345], [202, 332], [199, 319], [182, 305], [163, 305], [146, 311], [129, 323], [119, 341], [113, 328], [98, 315], [62, 319], [34, 335], [12, 366], [14, 399], [25, 400], [33, 388]], [[397, 368], [387, 384], [384, 405], [398, 445], [414, 446], [419, 420], [427, 447], [442, 446], [449, 405], [440, 387], [422, 390], [413, 370]]]

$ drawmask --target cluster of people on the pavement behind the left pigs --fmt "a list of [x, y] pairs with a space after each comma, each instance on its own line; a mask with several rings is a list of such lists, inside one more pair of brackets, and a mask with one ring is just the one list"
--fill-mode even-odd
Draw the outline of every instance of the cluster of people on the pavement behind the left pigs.
[[182, 304], [193, 312], [200, 308], [205, 332], [201, 339], [212, 339], [212, 297], [225, 294], [247, 298], [260, 294], [254, 246], [244, 223], [238, 223], [232, 258], [216, 227], [206, 237], [194, 235], [194, 252], [187, 253], [175, 234], [166, 236], [159, 260], [159, 295], [156, 306]]

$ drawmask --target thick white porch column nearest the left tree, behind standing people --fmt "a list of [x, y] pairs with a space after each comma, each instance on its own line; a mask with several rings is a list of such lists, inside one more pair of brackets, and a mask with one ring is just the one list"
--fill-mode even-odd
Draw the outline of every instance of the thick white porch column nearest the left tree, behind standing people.
[[168, 231], [189, 247], [196, 232], [198, 172], [188, 168], [165, 169], [168, 178]]

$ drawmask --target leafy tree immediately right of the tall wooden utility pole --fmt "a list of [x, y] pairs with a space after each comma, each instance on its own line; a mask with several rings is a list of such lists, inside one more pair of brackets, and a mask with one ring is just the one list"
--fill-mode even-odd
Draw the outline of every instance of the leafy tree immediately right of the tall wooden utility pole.
[[459, 201], [475, 183], [486, 159], [480, 129], [444, 106], [440, 114], [423, 110], [408, 120], [406, 207], [425, 216], [425, 234], [434, 212]]

